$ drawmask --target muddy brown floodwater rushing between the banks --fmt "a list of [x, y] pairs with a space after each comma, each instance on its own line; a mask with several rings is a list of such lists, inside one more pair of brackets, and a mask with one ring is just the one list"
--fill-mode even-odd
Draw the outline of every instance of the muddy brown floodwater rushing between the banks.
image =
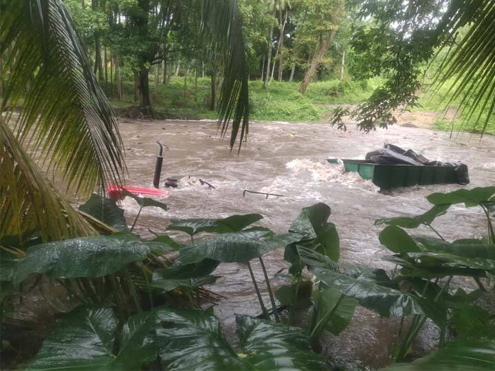
[[[327, 164], [323, 161], [325, 157], [362, 159], [370, 150], [389, 142], [413, 148], [429, 159], [463, 161], [470, 170], [469, 187], [495, 183], [495, 138], [489, 136], [479, 142], [479, 137], [469, 134], [449, 139], [448, 133], [401, 126], [366, 134], [352, 125], [344, 132], [328, 124], [253, 122], [248, 143], [237, 155], [230, 153], [226, 140], [219, 139], [214, 122], [123, 119], [120, 131], [126, 148], [128, 185], [152, 187], [157, 140], [168, 146], [162, 183], [166, 177], [179, 179], [179, 188], [164, 199], [168, 212], [155, 208], [142, 211], [137, 223], [137, 232], [142, 236], [151, 236], [148, 229], [166, 232], [171, 218], [219, 218], [252, 212], [264, 216], [259, 224], [274, 232], [287, 232], [301, 208], [324, 202], [330, 205], [331, 221], [340, 234], [343, 265], [391, 268], [381, 259], [386, 253], [378, 242], [382, 228], [373, 226], [375, 219], [425, 212], [430, 207], [425, 196], [461, 186], [417, 186], [379, 192], [373, 183], [352, 173], [342, 173], [340, 166]], [[208, 181], [215, 189], [201, 186], [198, 179]], [[243, 190], [283, 197], [243, 197]], [[137, 204], [127, 198], [122, 207], [131, 223]], [[435, 222], [446, 238], [479, 237], [485, 232], [478, 210], [452, 210]], [[187, 241], [184, 234], [170, 235]], [[273, 276], [285, 267], [283, 251], [267, 256], [265, 264]], [[262, 273], [259, 267], [255, 269], [261, 282]], [[215, 274], [223, 278], [208, 289], [223, 295], [217, 315], [232, 337], [234, 313], [259, 314], [259, 306], [245, 267], [225, 264]], [[274, 280], [275, 286], [282, 283]], [[340, 337], [329, 339], [325, 351], [379, 366], [386, 362], [395, 333], [394, 321], [360, 309]], [[427, 338], [431, 336], [426, 334]]]

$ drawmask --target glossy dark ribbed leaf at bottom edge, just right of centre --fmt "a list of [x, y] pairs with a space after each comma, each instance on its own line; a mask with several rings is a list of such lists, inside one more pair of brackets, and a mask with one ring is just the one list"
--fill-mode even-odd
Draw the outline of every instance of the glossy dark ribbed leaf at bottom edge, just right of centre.
[[300, 328], [236, 315], [243, 359], [254, 370], [326, 370], [325, 359], [311, 350]]

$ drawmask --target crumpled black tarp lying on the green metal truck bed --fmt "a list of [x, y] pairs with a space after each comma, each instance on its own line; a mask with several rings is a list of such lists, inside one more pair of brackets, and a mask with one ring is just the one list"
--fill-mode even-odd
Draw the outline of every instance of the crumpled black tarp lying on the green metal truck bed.
[[453, 166], [456, 172], [457, 183], [469, 184], [470, 182], [467, 165], [461, 161], [430, 161], [423, 155], [415, 153], [414, 150], [404, 150], [393, 144], [385, 144], [384, 148], [366, 153], [366, 160], [372, 164], [382, 165]]

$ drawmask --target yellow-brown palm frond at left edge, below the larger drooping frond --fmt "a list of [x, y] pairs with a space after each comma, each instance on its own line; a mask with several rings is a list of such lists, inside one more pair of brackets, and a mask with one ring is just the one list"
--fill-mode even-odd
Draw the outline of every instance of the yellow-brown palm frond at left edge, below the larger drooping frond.
[[52, 241], [96, 234], [47, 181], [1, 117], [0, 169], [0, 238], [39, 232], [43, 241]]

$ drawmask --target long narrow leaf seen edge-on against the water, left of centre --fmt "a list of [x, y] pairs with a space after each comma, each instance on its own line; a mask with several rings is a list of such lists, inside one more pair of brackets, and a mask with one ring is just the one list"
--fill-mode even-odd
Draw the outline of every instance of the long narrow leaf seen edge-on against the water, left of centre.
[[173, 221], [167, 225], [167, 228], [186, 232], [190, 236], [199, 232], [232, 233], [239, 232], [262, 218], [260, 214], [245, 214], [232, 215], [223, 219], [185, 219]]

